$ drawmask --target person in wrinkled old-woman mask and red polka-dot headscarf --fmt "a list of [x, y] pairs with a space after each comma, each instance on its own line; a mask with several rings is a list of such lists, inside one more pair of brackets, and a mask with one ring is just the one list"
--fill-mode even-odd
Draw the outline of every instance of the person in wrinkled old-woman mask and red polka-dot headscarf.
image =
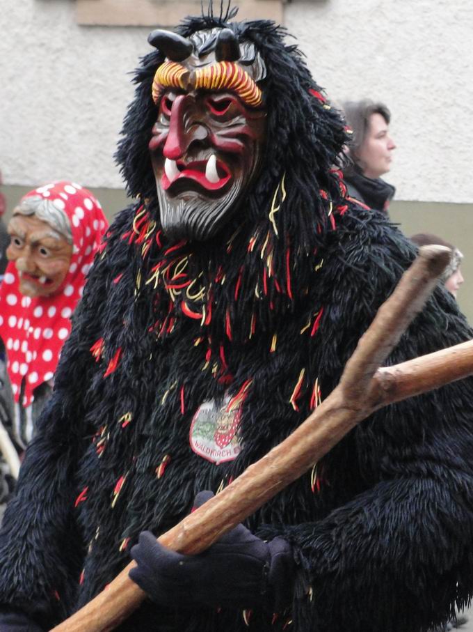
[[95, 196], [65, 181], [27, 193], [13, 210], [0, 288], [0, 337], [7, 355], [0, 408], [20, 454], [51, 396], [70, 316], [107, 226]]

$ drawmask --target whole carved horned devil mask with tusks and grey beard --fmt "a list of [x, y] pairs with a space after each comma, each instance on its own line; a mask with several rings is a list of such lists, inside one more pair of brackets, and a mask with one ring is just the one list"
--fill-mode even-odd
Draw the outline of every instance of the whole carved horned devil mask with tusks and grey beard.
[[238, 212], [259, 169], [264, 63], [230, 29], [190, 38], [157, 30], [148, 40], [166, 55], [154, 76], [149, 144], [161, 224], [171, 238], [207, 240]]

